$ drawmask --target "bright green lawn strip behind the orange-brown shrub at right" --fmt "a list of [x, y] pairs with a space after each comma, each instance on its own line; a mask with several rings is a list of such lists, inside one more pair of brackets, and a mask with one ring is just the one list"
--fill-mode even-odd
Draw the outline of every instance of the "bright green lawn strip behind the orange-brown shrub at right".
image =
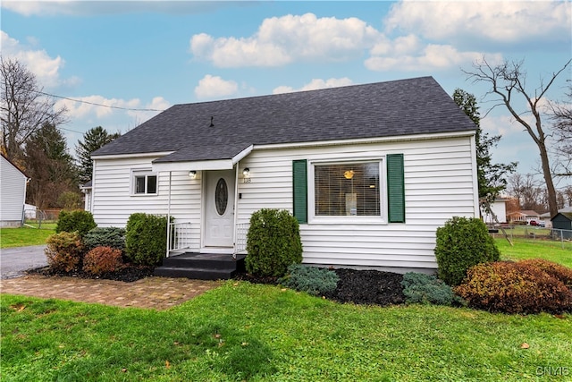
[[495, 242], [501, 251], [501, 259], [546, 259], [572, 267], [572, 243], [566, 243], [567, 245], [562, 248], [561, 242], [513, 237], [514, 245], [510, 246], [502, 235], [497, 235]]

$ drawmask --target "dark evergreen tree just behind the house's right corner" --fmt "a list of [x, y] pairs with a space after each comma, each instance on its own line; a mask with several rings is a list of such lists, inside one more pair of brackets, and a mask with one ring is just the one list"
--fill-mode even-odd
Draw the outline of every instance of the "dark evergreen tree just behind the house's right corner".
[[455, 89], [453, 100], [476, 124], [476, 173], [479, 185], [479, 199], [492, 201], [507, 187], [507, 176], [517, 169], [517, 162], [509, 165], [493, 164], [491, 149], [496, 147], [501, 135], [490, 136], [481, 129], [481, 115], [475, 96], [463, 89]]

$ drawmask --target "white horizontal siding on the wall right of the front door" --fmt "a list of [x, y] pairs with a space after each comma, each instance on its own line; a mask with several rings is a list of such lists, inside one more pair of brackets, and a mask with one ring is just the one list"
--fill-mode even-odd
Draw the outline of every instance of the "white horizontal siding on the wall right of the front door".
[[[463, 137], [306, 149], [255, 148], [240, 164], [249, 167], [250, 183], [240, 183], [238, 221], [248, 222], [260, 208], [292, 211], [292, 160], [307, 159], [310, 164], [403, 154], [406, 224], [310, 221], [300, 225], [304, 262], [336, 267], [436, 268], [437, 227], [452, 216], [478, 216], [472, 141]], [[308, 176], [308, 190], [313, 182]]]

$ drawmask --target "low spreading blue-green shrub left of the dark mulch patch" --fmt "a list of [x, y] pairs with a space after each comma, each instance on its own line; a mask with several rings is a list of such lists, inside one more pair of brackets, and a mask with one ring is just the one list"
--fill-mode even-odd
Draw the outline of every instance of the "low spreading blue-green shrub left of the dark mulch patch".
[[302, 264], [288, 267], [288, 275], [279, 280], [280, 284], [287, 288], [315, 296], [335, 291], [338, 281], [340, 277], [330, 269], [307, 267]]

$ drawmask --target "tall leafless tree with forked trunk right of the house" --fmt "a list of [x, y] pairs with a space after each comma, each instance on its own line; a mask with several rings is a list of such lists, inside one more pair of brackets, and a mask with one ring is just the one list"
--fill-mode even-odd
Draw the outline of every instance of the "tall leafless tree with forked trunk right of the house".
[[[526, 70], [524, 61], [507, 61], [501, 64], [489, 64], [485, 58], [474, 64], [474, 71], [467, 72], [467, 77], [475, 82], [485, 82], [490, 85], [485, 97], [492, 97], [497, 103], [492, 106], [506, 106], [515, 120], [528, 132], [538, 147], [543, 170], [544, 182], [548, 196], [548, 205], [551, 216], [558, 214], [556, 189], [552, 181], [551, 161], [547, 148], [547, 139], [550, 136], [551, 125], [543, 123], [545, 118], [544, 101], [546, 92], [556, 81], [561, 72], [564, 72], [572, 60], [568, 61], [558, 72], [552, 72], [547, 79], [542, 79], [538, 87], [527, 88]], [[524, 98], [525, 107], [518, 102]], [[526, 115], [532, 115], [534, 122], [528, 123]]]

